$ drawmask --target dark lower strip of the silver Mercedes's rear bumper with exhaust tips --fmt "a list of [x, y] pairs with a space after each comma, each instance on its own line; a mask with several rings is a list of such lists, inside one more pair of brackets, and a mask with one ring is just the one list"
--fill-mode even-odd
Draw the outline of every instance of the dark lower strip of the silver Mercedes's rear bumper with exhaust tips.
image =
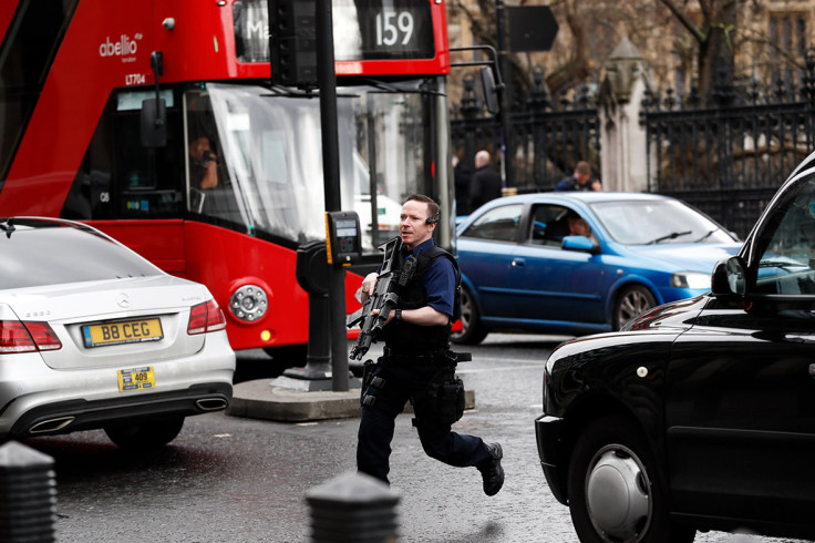
[[47, 403], [30, 409], [19, 417], [9, 436], [12, 438], [53, 436], [145, 419], [189, 417], [226, 409], [231, 397], [231, 385], [214, 382], [195, 385], [187, 390], [136, 397]]

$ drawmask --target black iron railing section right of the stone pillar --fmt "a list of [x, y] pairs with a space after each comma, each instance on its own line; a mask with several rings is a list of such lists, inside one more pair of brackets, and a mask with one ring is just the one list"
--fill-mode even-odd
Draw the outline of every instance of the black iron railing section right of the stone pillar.
[[695, 205], [744, 237], [793, 168], [815, 150], [815, 50], [801, 84], [720, 84], [709, 104], [647, 92], [648, 191]]

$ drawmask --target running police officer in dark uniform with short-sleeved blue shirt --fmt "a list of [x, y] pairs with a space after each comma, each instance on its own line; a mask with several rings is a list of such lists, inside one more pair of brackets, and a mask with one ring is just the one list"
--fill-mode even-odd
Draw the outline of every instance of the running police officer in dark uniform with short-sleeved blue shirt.
[[[427, 196], [412, 195], [402, 206], [400, 237], [404, 254], [399, 258], [415, 258], [415, 268], [382, 329], [383, 356], [363, 385], [357, 467], [389, 483], [395, 418], [411, 400], [424, 452], [450, 465], [477, 468], [484, 492], [494, 495], [504, 484], [501, 444], [487, 444], [478, 437], [451, 430], [464, 401], [463, 385], [453, 375], [455, 354], [450, 351], [455, 290], [461, 278], [453, 256], [434, 246], [437, 223], [439, 204]], [[376, 277], [376, 273], [369, 274], [362, 281], [363, 301], [373, 295]], [[450, 393], [457, 395], [460, 402], [453, 416], [447, 409]]]

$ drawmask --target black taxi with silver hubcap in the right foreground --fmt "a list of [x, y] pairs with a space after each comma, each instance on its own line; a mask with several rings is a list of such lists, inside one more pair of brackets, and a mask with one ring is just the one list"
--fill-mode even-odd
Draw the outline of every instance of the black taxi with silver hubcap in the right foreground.
[[549, 357], [538, 454], [580, 541], [815, 537], [815, 153], [711, 283]]

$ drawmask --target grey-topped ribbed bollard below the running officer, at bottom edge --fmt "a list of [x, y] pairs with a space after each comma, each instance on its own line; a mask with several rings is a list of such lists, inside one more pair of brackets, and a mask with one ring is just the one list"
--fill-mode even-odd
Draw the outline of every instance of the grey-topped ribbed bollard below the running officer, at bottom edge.
[[399, 500], [399, 492], [364, 473], [337, 477], [306, 496], [311, 508], [311, 541], [395, 542]]

